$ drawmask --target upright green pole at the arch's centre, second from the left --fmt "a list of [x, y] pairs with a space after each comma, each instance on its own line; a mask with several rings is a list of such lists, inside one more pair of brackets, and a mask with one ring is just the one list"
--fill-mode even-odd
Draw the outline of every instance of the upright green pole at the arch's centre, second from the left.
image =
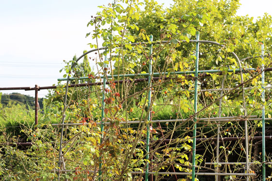
[[[150, 35], [150, 41], [153, 41], [153, 35]], [[150, 51], [149, 51], [149, 76], [148, 76], [148, 86], [149, 86], [149, 91], [148, 91], [148, 104], [147, 104], [147, 110], [148, 116], [147, 116], [147, 126], [146, 126], [146, 160], [149, 159], [149, 137], [150, 137], [150, 105], [151, 105], [151, 76], [152, 76], [152, 44], [150, 45]], [[148, 167], [149, 167], [149, 162], [147, 161], [146, 163], [146, 169], [145, 169], [145, 181], [148, 181]]]

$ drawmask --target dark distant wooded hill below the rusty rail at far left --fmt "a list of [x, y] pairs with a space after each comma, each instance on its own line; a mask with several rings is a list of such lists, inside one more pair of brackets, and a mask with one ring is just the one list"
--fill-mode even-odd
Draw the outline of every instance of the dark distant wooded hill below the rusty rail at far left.
[[[32, 109], [35, 108], [35, 98], [28, 96], [28, 95], [24, 95], [24, 94], [20, 94], [20, 93], [2, 94], [1, 104], [3, 106], [6, 106], [9, 103], [9, 101], [13, 101], [17, 104], [25, 104], [27, 108], [28, 108], [28, 106], [30, 106]], [[43, 98], [39, 98], [38, 102], [40, 105], [40, 109], [42, 109], [43, 108]]]

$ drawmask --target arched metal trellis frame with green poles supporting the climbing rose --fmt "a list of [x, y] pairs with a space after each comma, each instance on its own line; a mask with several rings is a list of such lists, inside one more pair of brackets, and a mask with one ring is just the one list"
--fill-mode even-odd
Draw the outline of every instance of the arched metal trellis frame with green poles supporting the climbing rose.
[[[190, 43], [196, 43], [196, 63], [195, 63], [195, 71], [187, 71], [187, 72], [173, 72], [172, 74], [187, 74], [187, 73], [195, 73], [195, 89], [194, 89], [194, 113], [195, 115], [197, 115], [197, 83], [198, 83], [198, 75], [199, 73], [205, 73], [205, 72], [220, 72], [219, 70], [203, 70], [203, 71], [198, 71], [198, 52], [199, 52], [199, 43], [211, 43], [211, 44], [215, 44], [215, 45], [218, 45], [218, 46], [221, 46], [223, 47], [223, 45], [217, 43], [217, 42], [212, 42], [212, 41], [206, 41], [206, 40], [199, 40], [199, 32], [197, 32], [197, 36], [196, 36], [196, 40], [190, 40]], [[152, 37], [150, 38], [151, 39], [151, 42], [152, 42]], [[185, 41], [183, 41], [185, 42]], [[154, 43], [157, 43], [157, 42], [152, 42], [150, 44], [150, 53], [149, 53], [149, 57], [152, 55], [152, 44]], [[169, 43], [168, 41], [162, 41], [162, 43]], [[132, 45], [138, 45], [138, 44], [148, 44], [148, 42], [141, 42], [141, 43], [133, 43]], [[100, 49], [93, 49], [93, 50], [90, 50], [86, 53], [84, 53], [83, 55], [81, 55], [77, 60], [76, 62], [78, 62], [82, 57], [84, 57], [86, 54], [90, 53], [90, 52], [93, 52], [93, 51], [97, 51], [97, 50], [101, 50], [101, 49], [107, 49], [106, 47], [103, 47], [103, 48], [100, 48]], [[235, 72], [238, 72], [240, 73], [240, 77], [241, 77], [241, 84], [242, 84], [242, 94], [243, 94], [243, 108], [244, 108], [244, 116], [247, 116], [247, 110], [246, 110], [246, 102], [245, 102], [245, 95], [244, 95], [244, 82], [243, 82], [243, 70], [242, 70], [242, 66], [241, 66], [241, 63], [240, 63], [240, 60], [238, 58], [238, 56], [234, 53], [234, 52], [231, 52], [234, 57], [236, 58], [237, 62], [238, 62], [238, 65], [239, 65], [239, 69], [238, 70], [235, 70]], [[254, 57], [249, 57], [249, 58], [254, 58]], [[262, 44], [262, 58], [264, 58], [264, 46]], [[72, 65], [72, 67], [75, 66], [75, 64]], [[254, 70], [254, 69], [250, 69], [250, 70]], [[263, 84], [263, 89], [265, 88], [264, 86], [264, 66], [262, 66], [262, 84]], [[233, 70], [230, 70], [230, 71], [233, 71]], [[167, 72], [163, 73], [163, 74], [167, 74]], [[101, 76], [101, 78], [103, 78], [103, 88], [105, 88], [105, 80], [106, 80], [106, 77], [107, 78], [111, 78], [111, 76], [106, 76], [106, 74], [104, 74], [105, 76]], [[156, 73], [153, 73], [152, 74], [152, 59], [149, 58], [149, 73], [148, 74], [127, 74], [127, 75], [124, 75], [124, 76], [127, 76], [127, 77], [130, 77], [130, 76], [148, 76], [148, 86], [149, 86], [149, 96], [148, 96], [148, 110], [150, 110], [150, 103], [151, 103], [151, 81], [153, 79], [152, 76], [156, 75]], [[121, 77], [120, 75], [114, 75], [113, 77]], [[86, 79], [85, 77], [82, 77], [82, 78], [79, 78], [78, 80], [84, 80]], [[60, 154], [59, 154], [59, 166], [61, 164], [61, 148], [62, 148], [62, 137], [63, 137], [63, 128], [65, 125], [68, 125], [68, 124], [64, 124], [64, 120], [65, 120], [65, 109], [67, 107], [66, 105], [66, 101], [67, 101], [67, 92], [68, 92], [68, 82], [70, 80], [73, 80], [73, 78], [67, 78], [67, 79], [58, 79], [58, 81], [63, 81], [63, 80], [67, 80], [67, 85], [66, 85], [66, 94], [65, 94], [65, 99], [64, 99], [64, 116], [62, 118], [62, 123], [61, 124], [58, 124], [59, 126], [61, 126], [61, 141], [60, 141]], [[211, 89], [213, 90], [213, 89]], [[222, 90], [223, 90], [223, 85], [222, 85]], [[221, 90], [221, 97], [222, 97], [222, 90]], [[219, 111], [219, 117], [221, 117], [221, 99], [220, 98], [220, 105], [219, 105], [219, 108], [220, 108], [220, 111]], [[262, 92], [262, 99], [264, 99], [264, 91]], [[103, 93], [103, 96], [102, 96], [102, 103], [104, 103], [104, 93]], [[104, 104], [102, 105], [102, 119], [103, 119], [103, 109], [104, 109]], [[263, 181], [265, 181], [265, 113], [264, 113], [265, 109], [264, 109], [264, 106], [263, 106], [263, 110], [262, 110], [262, 139], [263, 139], [263, 142], [262, 142], [262, 151], [263, 151], [263, 154], [262, 154], [262, 167], [263, 167]], [[150, 112], [148, 114], [148, 121], [150, 120]], [[196, 121], [197, 121], [197, 118], [194, 117], [194, 129], [193, 129], [193, 148], [192, 148], [192, 151], [193, 151], [193, 158], [192, 158], [192, 173], [176, 173], [176, 172], [161, 172], [161, 174], [176, 174], [176, 175], [189, 175], [191, 174], [192, 175], [192, 180], [194, 180], [195, 178], [195, 175], [201, 175], [202, 173], [196, 173], [195, 172], [195, 151], [196, 151]], [[246, 144], [246, 173], [242, 174], [244, 176], [246, 176], [246, 180], [248, 181], [249, 180], [249, 176], [252, 176], [252, 175], [255, 175], [255, 174], [252, 174], [252, 173], [249, 173], [249, 158], [248, 158], [248, 132], [247, 132], [247, 119], [245, 120], [245, 144]], [[101, 131], [103, 129], [103, 121], [101, 122]], [[56, 126], [56, 125], [54, 125]], [[217, 163], [219, 163], [219, 134], [220, 134], [220, 122], [218, 124], [218, 136], [217, 136]], [[149, 153], [149, 124], [147, 124], [147, 140], [146, 140], [146, 150], [147, 152]], [[149, 159], [149, 154], [147, 154], [146, 156], [146, 159]], [[146, 170], [145, 170], [145, 180], [148, 181], [148, 175], [149, 174], [153, 174], [153, 172], [149, 172], [148, 171], [148, 166], [149, 164], [147, 163], [146, 164]], [[101, 176], [101, 166], [102, 164], [100, 163], [100, 170], [99, 170], [99, 175]], [[59, 170], [60, 171], [60, 170]], [[160, 173], [160, 172], [159, 172]], [[219, 175], [228, 175], [228, 173], [218, 173], [218, 172], [215, 172], [215, 173], [209, 173], [209, 174], [204, 174], [204, 175], [216, 175], [216, 176], [219, 176]], [[233, 174], [233, 173], [230, 173], [229, 175], [236, 175], [236, 174]], [[100, 177], [99, 177], [100, 179]], [[216, 179], [218, 180], [218, 177], [216, 177]]]

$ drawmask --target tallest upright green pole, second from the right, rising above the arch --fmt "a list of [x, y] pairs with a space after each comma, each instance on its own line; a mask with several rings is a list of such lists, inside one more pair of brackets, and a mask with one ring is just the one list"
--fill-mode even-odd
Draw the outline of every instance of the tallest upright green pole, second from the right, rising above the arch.
[[[196, 63], [195, 63], [195, 95], [194, 95], [194, 112], [197, 113], [197, 83], [198, 83], [198, 54], [199, 54], [199, 32], [196, 33]], [[192, 181], [195, 180], [195, 153], [196, 153], [196, 117], [194, 117], [193, 130], [193, 158], [192, 158]]]

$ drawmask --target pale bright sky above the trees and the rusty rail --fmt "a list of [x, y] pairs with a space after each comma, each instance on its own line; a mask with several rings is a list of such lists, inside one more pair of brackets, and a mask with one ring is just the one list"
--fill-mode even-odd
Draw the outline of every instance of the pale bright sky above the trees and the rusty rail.
[[[171, 0], [157, 0], [168, 6]], [[87, 27], [99, 5], [112, 0], [0, 0], [0, 87], [50, 86], [62, 78], [63, 60], [90, 50]], [[238, 16], [272, 15], [272, 0], [240, 0]], [[91, 66], [94, 66], [90, 62]], [[34, 96], [34, 91], [19, 92]], [[47, 90], [39, 91], [39, 98]]]

